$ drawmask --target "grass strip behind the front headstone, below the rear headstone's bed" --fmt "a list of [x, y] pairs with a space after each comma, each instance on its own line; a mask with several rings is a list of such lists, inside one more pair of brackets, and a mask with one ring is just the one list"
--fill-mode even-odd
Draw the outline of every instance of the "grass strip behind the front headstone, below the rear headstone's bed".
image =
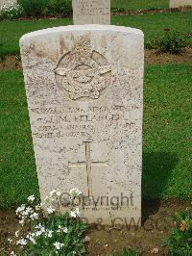
[[[28, 32], [69, 24], [72, 24], [71, 18], [37, 21], [2, 21], [0, 22], [0, 56], [18, 54], [18, 40], [22, 35]], [[180, 33], [191, 33], [192, 13], [155, 13], [132, 16], [112, 16], [112, 24], [143, 30], [145, 42], [147, 42], [154, 38], [161, 37], [163, 29], [167, 27], [171, 30], [177, 30]]]

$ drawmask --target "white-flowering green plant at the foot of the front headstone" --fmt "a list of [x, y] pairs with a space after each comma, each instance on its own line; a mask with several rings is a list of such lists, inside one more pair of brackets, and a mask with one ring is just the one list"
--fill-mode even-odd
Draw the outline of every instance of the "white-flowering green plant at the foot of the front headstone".
[[87, 225], [72, 203], [79, 195], [78, 189], [71, 190], [70, 211], [64, 215], [60, 211], [60, 192], [50, 192], [42, 204], [35, 203], [34, 195], [29, 196], [29, 204], [16, 210], [21, 227], [12, 240], [9, 238], [11, 255], [84, 255]]

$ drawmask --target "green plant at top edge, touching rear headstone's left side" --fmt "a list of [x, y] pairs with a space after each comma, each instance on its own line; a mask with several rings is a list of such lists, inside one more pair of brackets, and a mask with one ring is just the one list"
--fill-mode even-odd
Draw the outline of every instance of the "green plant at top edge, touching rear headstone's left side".
[[46, 14], [67, 16], [72, 13], [72, 1], [71, 0], [50, 0]]

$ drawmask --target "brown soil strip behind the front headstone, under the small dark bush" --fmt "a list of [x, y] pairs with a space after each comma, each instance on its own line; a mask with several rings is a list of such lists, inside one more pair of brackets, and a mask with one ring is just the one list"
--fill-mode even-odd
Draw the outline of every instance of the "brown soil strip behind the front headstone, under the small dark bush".
[[[158, 54], [156, 50], [145, 49], [145, 64], [192, 63], [192, 48], [185, 48], [181, 54]], [[22, 69], [20, 58], [7, 55], [0, 62], [0, 70]]]

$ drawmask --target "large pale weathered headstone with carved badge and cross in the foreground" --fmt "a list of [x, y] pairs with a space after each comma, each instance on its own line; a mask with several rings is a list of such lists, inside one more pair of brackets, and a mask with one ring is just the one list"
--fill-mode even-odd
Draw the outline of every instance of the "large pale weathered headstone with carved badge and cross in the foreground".
[[143, 44], [139, 30], [103, 25], [20, 39], [41, 198], [78, 188], [91, 222], [141, 216]]

